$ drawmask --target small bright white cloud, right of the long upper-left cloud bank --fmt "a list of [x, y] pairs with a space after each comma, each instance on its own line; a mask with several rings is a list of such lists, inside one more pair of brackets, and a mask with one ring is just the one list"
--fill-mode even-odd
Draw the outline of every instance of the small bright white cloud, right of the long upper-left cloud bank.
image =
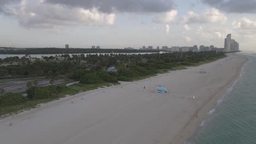
[[171, 23], [175, 20], [177, 14], [178, 14], [177, 10], [171, 10], [171, 11], [168, 11], [164, 17], [153, 19], [153, 22], [155, 22], [155, 23]]

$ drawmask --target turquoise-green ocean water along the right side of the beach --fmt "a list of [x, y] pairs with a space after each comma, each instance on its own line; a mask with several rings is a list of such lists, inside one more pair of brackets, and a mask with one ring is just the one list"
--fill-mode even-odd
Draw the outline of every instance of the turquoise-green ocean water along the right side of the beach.
[[256, 143], [256, 53], [241, 53], [250, 61], [238, 79], [207, 113], [197, 133], [185, 143]]

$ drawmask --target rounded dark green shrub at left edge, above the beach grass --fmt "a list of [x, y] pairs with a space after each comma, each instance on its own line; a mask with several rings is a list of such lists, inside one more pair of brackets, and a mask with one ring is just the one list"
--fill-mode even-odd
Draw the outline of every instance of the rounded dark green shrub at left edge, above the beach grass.
[[6, 93], [0, 95], [0, 107], [14, 106], [26, 102], [26, 98], [18, 93]]

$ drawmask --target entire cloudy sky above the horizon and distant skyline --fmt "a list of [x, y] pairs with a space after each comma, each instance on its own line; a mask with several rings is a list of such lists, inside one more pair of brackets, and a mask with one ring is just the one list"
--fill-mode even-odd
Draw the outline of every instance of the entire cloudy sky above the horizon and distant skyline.
[[256, 51], [256, 0], [0, 0], [0, 47], [214, 45]]

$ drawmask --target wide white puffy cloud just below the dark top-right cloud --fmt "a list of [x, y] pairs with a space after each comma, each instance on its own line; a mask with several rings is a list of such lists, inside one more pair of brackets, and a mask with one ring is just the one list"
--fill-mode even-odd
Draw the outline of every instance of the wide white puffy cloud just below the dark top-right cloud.
[[183, 16], [183, 23], [224, 23], [226, 20], [227, 17], [215, 8], [208, 9], [205, 13], [200, 15], [194, 13], [193, 11], [189, 11], [188, 15]]

